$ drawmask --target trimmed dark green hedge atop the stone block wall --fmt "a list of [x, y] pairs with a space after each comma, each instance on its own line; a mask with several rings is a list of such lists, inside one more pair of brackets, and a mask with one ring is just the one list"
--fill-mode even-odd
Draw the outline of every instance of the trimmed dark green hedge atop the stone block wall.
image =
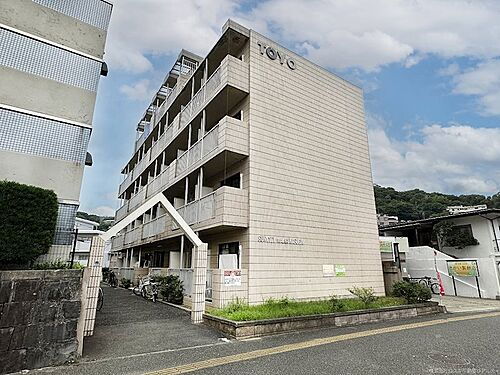
[[0, 268], [28, 266], [49, 251], [57, 221], [51, 190], [0, 181]]

